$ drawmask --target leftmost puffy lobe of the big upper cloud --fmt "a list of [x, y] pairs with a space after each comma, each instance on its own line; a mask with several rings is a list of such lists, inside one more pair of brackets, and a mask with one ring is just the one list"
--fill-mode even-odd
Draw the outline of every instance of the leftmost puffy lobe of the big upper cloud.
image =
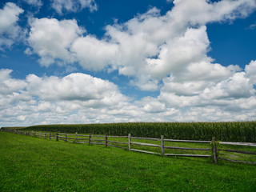
[[42, 66], [50, 66], [58, 60], [61, 60], [62, 64], [74, 62], [69, 50], [70, 45], [84, 32], [75, 20], [34, 18], [30, 26], [28, 42], [34, 53], [41, 57], [39, 62]]

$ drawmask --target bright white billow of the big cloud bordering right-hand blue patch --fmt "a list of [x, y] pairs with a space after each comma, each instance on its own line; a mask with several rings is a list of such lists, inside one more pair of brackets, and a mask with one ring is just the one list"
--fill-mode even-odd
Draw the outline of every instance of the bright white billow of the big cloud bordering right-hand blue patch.
[[157, 78], [164, 78], [167, 74], [183, 73], [193, 62], [210, 60], [206, 56], [209, 44], [206, 26], [188, 29], [185, 34], [171, 38], [160, 46], [158, 58], [147, 59], [147, 69]]

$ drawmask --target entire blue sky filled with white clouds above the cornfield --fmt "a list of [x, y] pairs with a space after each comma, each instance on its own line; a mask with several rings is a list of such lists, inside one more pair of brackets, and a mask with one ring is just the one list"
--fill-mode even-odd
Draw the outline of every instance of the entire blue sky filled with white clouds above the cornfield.
[[256, 118], [255, 0], [0, 1], [0, 126]]

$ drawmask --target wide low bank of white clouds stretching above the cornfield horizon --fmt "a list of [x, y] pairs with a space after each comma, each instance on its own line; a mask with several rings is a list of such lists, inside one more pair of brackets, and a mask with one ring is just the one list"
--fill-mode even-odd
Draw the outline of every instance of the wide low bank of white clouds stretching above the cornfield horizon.
[[[0, 114], [6, 126], [44, 123], [247, 121], [256, 115], [256, 61], [219, 82], [172, 82], [157, 98], [132, 102], [113, 82], [88, 74], [26, 79], [0, 70]], [[8, 121], [6, 121], [6, 119]]]

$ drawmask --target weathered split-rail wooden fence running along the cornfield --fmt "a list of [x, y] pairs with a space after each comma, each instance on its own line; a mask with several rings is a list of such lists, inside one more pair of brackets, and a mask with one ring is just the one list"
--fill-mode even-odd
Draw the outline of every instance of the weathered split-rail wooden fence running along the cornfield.
[[[256, 143], [252, 142], [216, 142], [214, 138], [212, 141], [194, 141], [194, 140], [178, 140], [178, 139], [166, 139], [162, 135], [161, 138], [138, 138], [132, 137], [130, 134], [128, 136], [110, 136], [110, 135], [92, 135], [92, 134], [63, 134], [63, 133], [45, 133], [45, 132], [36, 132], [36, 131], [21, 131], [21, 130], [2, 130], [5, 132], [10, 132], [14, 134], [22, 134], [32, 137], [38, 138], [49, 138], [55, 139], [56, 141], [62, 140], [65, 142], [73, 142], [73, 143], [88, 143], [96, 144], [96, 145], [104, 145], [104, 146], [114, 146], [124, 150], [132, 150], [136, 152], [146, 153], [146, 154], [158, 154], [162, 156], [176, 156], [176, 157], [193, 157], [193, 158], [213, 158], [214, 163], [218, 163], [218, 159], [230, 161], [230, 162], [242, 162], [248, 164], [256, 165], [256, 162], [245, 162], [245, 161], [238, 161], [229, 158], [220, 158], [218, 157], [218, 151], [226, 151], [226, 152], [234, 152], [238, 154], [252, 154], [256, 155], [254, 151], [245, 151], [245, 150], [223, 150], [218, 149], [218, 145], [232, 145], [232, 146], [253, 146], [256, 147]], [[110, 138], [128, 138], [127, 142], [118, 142], [118, 141], [110, 141]], [[134, 142], [132, 139], [140, 139], [140, 140], [151, 140], [151, 141], [158, 141], [161, 142], [161, 145], [152, 144], [152, 143], [144, 143], [144, 142]], [[190, 143], [208, 143], [211, 147], [209, 148], [192, 148], [192, 147], [178, 147], [178, 146], [166, 146], [167, 142], [190, 142]], [[122, 146], [118, 146], [118, 144], [122, 144]], [[126, 145], [127, 147], [124, 147]], [[150, 147], [158, 147], [161, 148], [161, 153], [156, 153], [147, 150], [137, 150], [133, 149], [132, 146], [150, 146]], [[211, 151], [211, 154], [166, 154], [165, 149], [171, 150], [205, 150]]]

